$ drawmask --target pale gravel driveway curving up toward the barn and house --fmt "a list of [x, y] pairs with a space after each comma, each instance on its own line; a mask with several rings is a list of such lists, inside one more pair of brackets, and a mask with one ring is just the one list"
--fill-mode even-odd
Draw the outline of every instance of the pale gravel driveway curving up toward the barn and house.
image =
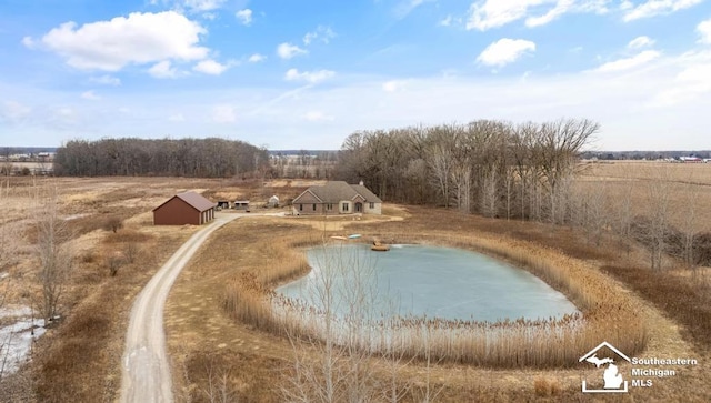
[[138, 295], [131, 309], [122, 360], [121, 402], [170, 403], [173, 401], [170, 364], [166, 353], [163, 306], [182, 268], [210, 234], [242, 214], [221, 214], [196, 232], [163, 264]]

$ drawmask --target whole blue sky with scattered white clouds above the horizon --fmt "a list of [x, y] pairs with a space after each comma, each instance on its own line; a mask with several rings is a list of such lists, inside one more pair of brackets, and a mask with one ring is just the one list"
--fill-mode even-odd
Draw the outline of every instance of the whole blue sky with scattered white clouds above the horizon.
[[710, 111], [704, 0], [0, 0], [0, 145], [589, 118], [711, 149]]

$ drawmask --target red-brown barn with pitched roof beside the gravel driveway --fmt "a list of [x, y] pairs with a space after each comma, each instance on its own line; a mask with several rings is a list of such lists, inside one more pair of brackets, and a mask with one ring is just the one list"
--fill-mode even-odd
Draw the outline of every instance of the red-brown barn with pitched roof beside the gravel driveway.
[[178, 193], [153, 209], [154, 225], [202, 225], [214, 219], [216, 203], [196, 192]]

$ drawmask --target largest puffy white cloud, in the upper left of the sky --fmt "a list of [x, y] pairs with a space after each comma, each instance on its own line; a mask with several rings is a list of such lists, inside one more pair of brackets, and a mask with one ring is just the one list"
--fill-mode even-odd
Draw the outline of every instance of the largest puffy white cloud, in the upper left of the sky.
[[42, 37], [47, 49], [83, 70], [118, 71], [129, 63], [200, 60], [209, 49], [198, 46], [207, 31], [174, 11], [130, 13], [77, 27], [66, 22]]

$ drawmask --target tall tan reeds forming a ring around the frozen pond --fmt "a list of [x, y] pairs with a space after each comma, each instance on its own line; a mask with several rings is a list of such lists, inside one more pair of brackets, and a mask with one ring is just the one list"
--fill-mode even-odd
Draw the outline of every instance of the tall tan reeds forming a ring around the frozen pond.
[[[629, 298], [614, 292], [614, 284], [594, 268], [552, 249], [503, 236], [428, 234], [389, 240], [469, 249], [510, 261], [564, 293], [582, 313], [498, 322], [415, 316], [377, 320], [359, 323], [358, 340], [352, 340], [353, 332], [343, 332], [337, 335], [337, 343], [356, 343], [373, 355], [397, 353], [414, 360], [433, 356], [485, 367], [567, 367], [577, 363], [580, 352], [601, 340], [629, 354], [647, 344], [647, 329]], [[303, 253], [296, 248], [319, 241], [312, 238], [268, 246], [268, 259], [259, 274], [242, 274], [227, 285], [224, 306], [229, 314], [272, 333], [319, 339], [324, 332], [324, 313], [273, 292], [273, 285], [308, 271]], [[352, 329], [351, 321], [359, 320], [347, 316], [333, 321], [340, 329]]]

